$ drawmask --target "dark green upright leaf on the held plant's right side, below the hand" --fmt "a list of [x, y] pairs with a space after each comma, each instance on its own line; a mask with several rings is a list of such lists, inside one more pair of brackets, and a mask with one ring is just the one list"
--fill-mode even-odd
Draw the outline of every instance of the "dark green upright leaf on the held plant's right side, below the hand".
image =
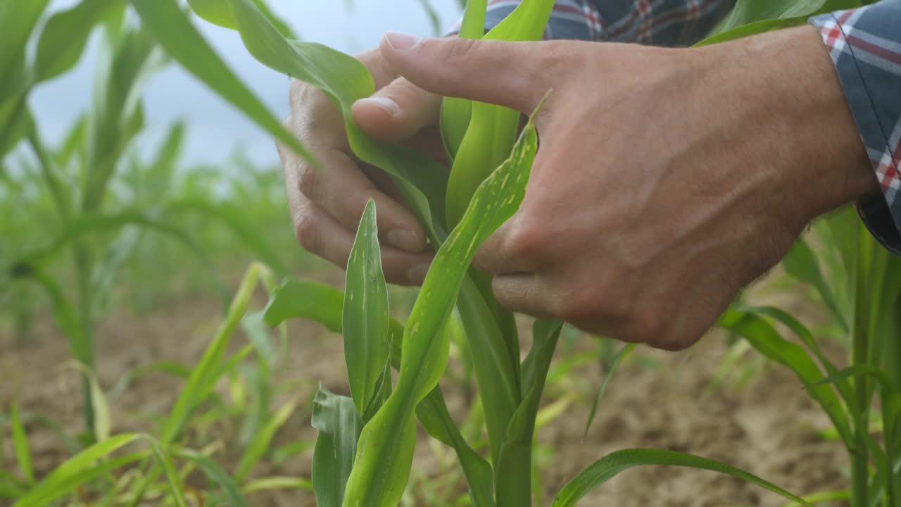
[[[551, 369], [551, 358], [560, 339], [563, 322], [539, 319], [532, 326], [531, 366], [523, 369], [523, 386], [528, 392], [516, 409], [497, 463], [497, 505], [514, 507], [532, 504], [531, 475], [523, 475], [523, 463], [532, 462], [535, 418], [542, 402], [544, 383]], [[490, 409], [487, 409], [490, 410]]]

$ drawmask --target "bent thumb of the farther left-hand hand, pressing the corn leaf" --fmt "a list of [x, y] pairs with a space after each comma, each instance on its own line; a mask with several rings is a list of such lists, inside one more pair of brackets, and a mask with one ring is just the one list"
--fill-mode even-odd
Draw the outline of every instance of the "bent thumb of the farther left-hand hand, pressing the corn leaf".
[[369, 98], [352, 107], [353, 119], [378, 141], [396, 142], [411, 137], [424, 126], [436, 124], [441, 97], [396, 78]]

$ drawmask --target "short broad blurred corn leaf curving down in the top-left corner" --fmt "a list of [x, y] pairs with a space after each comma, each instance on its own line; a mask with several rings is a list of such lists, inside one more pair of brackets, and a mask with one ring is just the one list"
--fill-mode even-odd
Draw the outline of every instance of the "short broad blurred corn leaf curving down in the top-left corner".
[[67, 11], [53, 14], [38, 40], [35, 80], [56, 78], [75, 67], [96, 23], [113, 9], [124, 6], [120, 0], [84, 0]]

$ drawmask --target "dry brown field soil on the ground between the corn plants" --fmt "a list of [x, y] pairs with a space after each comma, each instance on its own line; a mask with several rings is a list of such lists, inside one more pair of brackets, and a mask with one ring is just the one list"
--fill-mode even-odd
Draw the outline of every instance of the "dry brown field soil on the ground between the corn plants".
[[[775, 298], [793, 311], [805, 306], [796, 296]], [[147, 317], [106, 318], [98, 331], [96, 346], [100, 382], [109, 389], [136, 366], [161, 359], [196, 364], [220, 315], [221, 307], [214, 301], [183, 300]], [[28, 343], [18, 343], [8, 333], [0, 333], [0, 372], [4, 377], [0, 380], [0, 406], [9, 406], [19, 381], [23, 410], [62, 421], [67, 429], [75, 431], [81, 424], [77, 375], [60, 370], [69, 358], [68, 342], [50, 318], [46, 320]], [[308, 379], [304, 389], [310, 392], [317, 381], [332, 391], [347, 392], [341, 340], [309, 324], [295, 324], [291, 333], [290, 367], [282, 380]], [[236, 338], [235, 342], [242, 344], [243, 340]], [[579, 346], [588, 347], [590, 341], [584, 338]], [[762, 367], [742, 390], [729, 383], [708, 389], [725, 350], [723, 336], [717, 333], [705, 337], [687, 353], [640, 349], [640, 354], [625, 362], [610, 384], [587, 438], [582, 433], [590, 399], [602, 380], [597, 364], [586, 364], [576, 369], [566, 383], [549, 386], [548, 402], [566, 395], [574, 396], [576, 401], [539, 434], [542, 446], [553, 450], [543, 473], [545, 503], [549, 504], [552, 493], [579, 470], [609, 452], [627, 447], [669, 448], [722, 460], [795, 493], [846, 486], [842, 468], [847, 458], [842, 446], [816, 436], [815, 429], [826, 429], [829, 422], [785, 368]], [[837, 347], [830, 352], [841, 355]], [[742, 365], [755, 357], [746, 355]], [[68, 386], [61, 385], [60, 379], [68, 379]], [[133, 383], [122, 397], [112, 401], [114, 432], [152, 430], [147, 416], [165, 414], [179, 384], [163, 374]], [[463, 405], [459, 388], [444, 385], [444, 391], [451, 407]], [[463, 414], [456, 413], [459, 411], [455, 410], [455, 417], [461, 419]], [[59, 465], [65, 451], [50, 431], [36, 424], [30, 424], [28, 429], [35, 466], [43, 475]], [[223, 434], [233, 434], [222, 430]], [[279, 433], [278, 440], [284, 443], [296, 438], [314, 438], [308, 410], [298, 412]], [[421, 438], [414, 466], [420, 477], [446, 469], [437, 464], [433, 451], [436, 446], [425, 445], [425, 439]], [[2, 466], [9, 470], [14, 458], [8, 438], [3, 445]], [[438, 447], [442, 455], [448, 454]], [[226, 452], [217, 458], [228, 464], [233, 456]], [[263, 472], [309, 476], [309, 462], [307, 454]], [[293, 491], [257, 494], [250, 497], [250, 502], [277, 506], [314, 504], [311, 494]], [[769, 507], [782, 503], [778, 495], [722, 475], [653, 466], [615, 477], [580, 504]]]

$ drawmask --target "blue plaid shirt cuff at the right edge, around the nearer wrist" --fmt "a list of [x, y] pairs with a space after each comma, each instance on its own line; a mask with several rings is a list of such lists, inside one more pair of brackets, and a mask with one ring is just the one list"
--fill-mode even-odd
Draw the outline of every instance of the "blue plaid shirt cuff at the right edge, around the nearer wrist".
[[842, 81], [882, 196], [858, 203], [878, 240], [901, 253], [901, 0], [811, 19]]

